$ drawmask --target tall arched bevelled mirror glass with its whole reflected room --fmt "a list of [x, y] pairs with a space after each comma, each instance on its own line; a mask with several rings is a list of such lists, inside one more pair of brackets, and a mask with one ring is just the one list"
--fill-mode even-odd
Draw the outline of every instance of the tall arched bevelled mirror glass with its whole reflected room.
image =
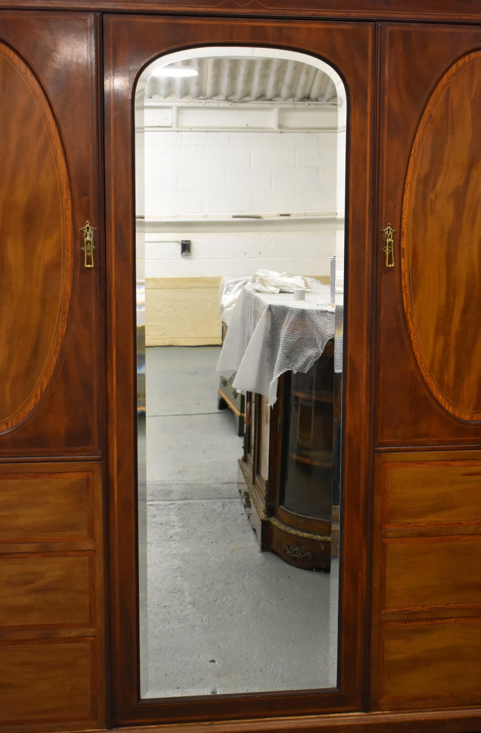
[[290, 51], [137, 84], [144, 698], [337, 685], [345, 127]]

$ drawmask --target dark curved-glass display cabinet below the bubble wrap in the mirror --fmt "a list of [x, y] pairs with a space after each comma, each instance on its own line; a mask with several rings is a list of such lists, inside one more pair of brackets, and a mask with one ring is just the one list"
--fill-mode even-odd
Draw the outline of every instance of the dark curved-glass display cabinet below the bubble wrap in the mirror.
[[330, 570], [331, 557], [339, 555], [334, 340], [306, 374], [283, 375], [273, 409], [267, 402], [262, 394], [248, 393], [239, 462], [246, 512], [262, 550], [273, 550], [295, 567]]

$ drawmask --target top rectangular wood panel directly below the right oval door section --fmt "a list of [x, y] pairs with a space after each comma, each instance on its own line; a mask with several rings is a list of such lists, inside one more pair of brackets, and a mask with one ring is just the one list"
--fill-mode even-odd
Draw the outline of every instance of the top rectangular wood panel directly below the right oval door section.
[[481, 462], [386, 463], [383, 525], [481, 522]]

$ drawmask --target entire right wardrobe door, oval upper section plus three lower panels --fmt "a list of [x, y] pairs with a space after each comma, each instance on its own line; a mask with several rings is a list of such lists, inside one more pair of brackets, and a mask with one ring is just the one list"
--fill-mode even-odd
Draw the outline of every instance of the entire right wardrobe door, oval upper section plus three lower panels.
[[381, 41], [371, 704], [474, 705], [481, 30], [386, 25]]

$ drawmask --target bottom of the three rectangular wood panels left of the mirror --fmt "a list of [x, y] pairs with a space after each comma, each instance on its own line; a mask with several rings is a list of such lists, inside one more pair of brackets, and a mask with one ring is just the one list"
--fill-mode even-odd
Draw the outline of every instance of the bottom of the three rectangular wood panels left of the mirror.
[[92, 639], [0, 644], [0, 720], [92, 718]]

